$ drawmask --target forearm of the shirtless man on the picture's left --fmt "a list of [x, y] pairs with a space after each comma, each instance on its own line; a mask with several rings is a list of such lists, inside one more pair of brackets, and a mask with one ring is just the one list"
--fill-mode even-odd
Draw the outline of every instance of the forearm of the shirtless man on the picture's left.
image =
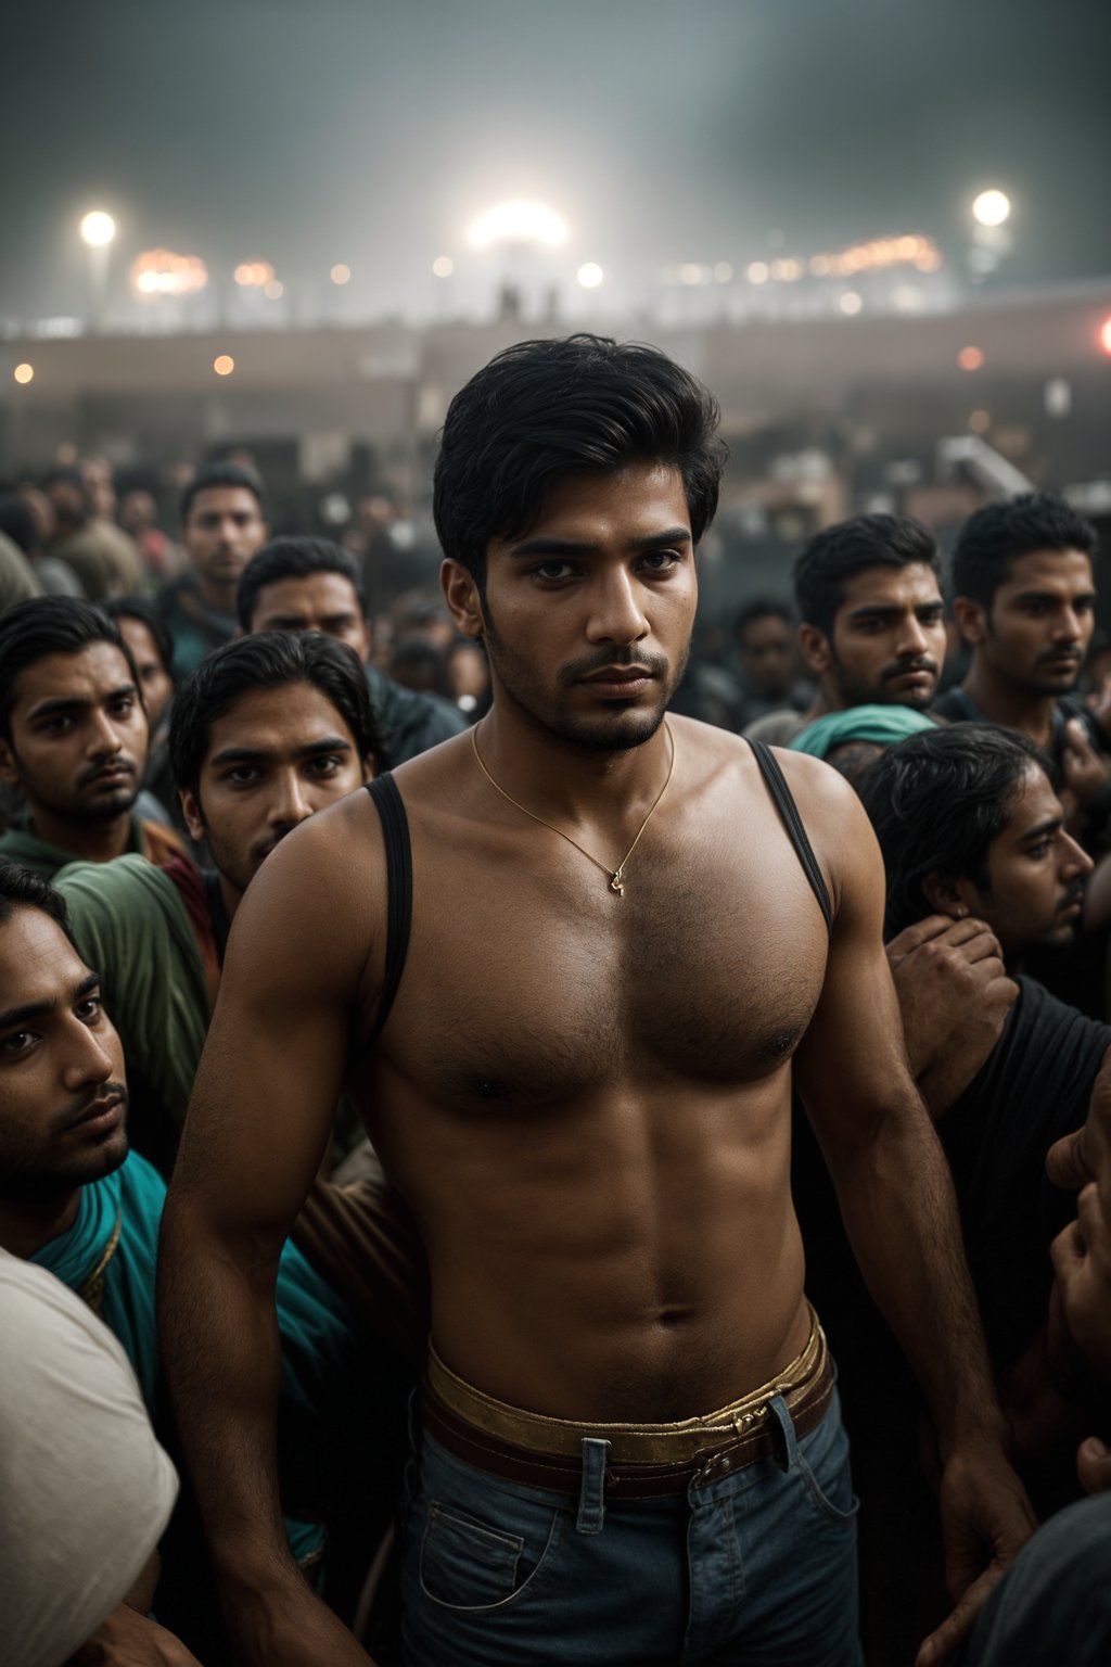
[[188, 1199], [170, 1194], [158, 1254], [162, 1357], [232, 1609], [252, 1589], [300, 1580], [278, 1500], [275, 1267], [277, 1259], [217, 1239]]

